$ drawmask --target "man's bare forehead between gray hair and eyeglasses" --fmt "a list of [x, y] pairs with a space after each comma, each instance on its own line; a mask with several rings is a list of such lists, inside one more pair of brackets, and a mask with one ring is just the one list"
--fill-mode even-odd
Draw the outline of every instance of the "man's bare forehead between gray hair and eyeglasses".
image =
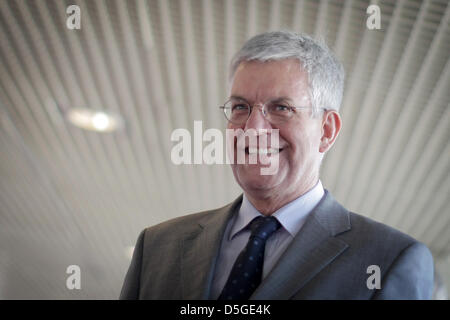
[[308, 73], [297, 59], [245, 61], [236, 69], [231, 95], [249, 101], [276, 97], [305, 100], [309, 97]]

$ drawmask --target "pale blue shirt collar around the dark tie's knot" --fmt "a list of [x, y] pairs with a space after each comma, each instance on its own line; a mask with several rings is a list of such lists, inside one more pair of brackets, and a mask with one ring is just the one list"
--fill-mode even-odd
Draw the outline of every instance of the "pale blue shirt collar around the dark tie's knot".
[[[319, 180], [311, 190], [284, 205], [275, 211], [272, 216], [276, 217], [281, 226], [294, 237], [324, 194], [322, 182]], [[259, 216], [263, 215], [252, 205], [244, 193], [241, 208], [229, 234], [229, 240]]]

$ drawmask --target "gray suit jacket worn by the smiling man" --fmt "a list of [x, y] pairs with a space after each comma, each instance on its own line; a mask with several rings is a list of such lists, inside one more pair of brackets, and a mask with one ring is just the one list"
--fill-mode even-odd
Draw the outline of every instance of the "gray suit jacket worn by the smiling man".
[[[209, 299], [220, 243], [242, 196], [139, 235], [120, 299]], [[369, 289], [380, 269], [380, 289]], [[373, 280], [373, 281], [372, 281]], [[325, 191], [305, 225], [250, 299], [431, 299], [425, 245], [351, 213]]]

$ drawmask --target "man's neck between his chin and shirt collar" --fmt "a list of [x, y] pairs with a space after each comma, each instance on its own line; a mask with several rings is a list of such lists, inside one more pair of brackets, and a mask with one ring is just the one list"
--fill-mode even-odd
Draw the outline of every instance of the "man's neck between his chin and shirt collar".
[[270, 192], [268, 195], [261, 195], [260, 192], [246, 191], [245, 196], [256, 210], [265, 216], [270, 216], [289, 202], [294, 201], [310, 191], [316, 186], [318, 181], [319, 179], [316, 178], [315, 180], [296, 188], [292, 192]]

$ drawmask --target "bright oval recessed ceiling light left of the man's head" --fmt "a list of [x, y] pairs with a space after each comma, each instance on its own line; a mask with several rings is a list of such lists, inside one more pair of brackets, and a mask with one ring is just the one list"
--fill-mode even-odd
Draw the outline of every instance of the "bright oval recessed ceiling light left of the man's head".
[[73, 125], [91, 131], [111, 132], [122, 127], [122, 119], [110, 112], [90, 109], [70, 109], [66, 115]]

